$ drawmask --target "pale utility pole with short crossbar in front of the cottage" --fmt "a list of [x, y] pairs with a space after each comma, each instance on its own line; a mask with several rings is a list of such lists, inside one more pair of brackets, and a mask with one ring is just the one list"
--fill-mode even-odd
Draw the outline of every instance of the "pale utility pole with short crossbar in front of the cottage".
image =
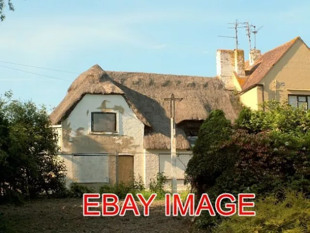
[[[175, 100], [182, 101], [183, 98], [174, 98], [171, 94], [171, 98], [164, 100], [170, 100], [170, 122], [171, 122], [171, 193], [177, 193], [176, 184], [176, 139], [175, 139]], [[173, 111], [172, 111], [173, 105]]]

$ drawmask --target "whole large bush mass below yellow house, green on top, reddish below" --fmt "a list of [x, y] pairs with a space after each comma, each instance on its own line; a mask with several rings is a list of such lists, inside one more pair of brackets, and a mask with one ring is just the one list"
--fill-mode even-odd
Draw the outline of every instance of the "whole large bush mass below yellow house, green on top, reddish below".
[[[208, 130], [201, 129], [199, 137], [215, 141], [195, 146], [186, 169], [186, 183], [198, 194], [207, 192], [210, 198], [225, 192], [265, 195], [283, 188], [310, 192], [309, 113], [274, 101], [264, 104], [268, 112], [244, 108], [234, 130], [227, 130], [229, 125], [224, 123], [221, 136], [212, 128], [217, 121], [204, 122]], [[218, 118], [218, 125], [226, 122], [223, 115]]]

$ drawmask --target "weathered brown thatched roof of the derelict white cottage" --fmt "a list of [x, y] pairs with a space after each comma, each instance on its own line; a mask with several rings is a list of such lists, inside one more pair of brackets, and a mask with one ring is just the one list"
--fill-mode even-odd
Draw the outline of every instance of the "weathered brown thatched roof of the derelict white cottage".
[[[213, 109], [222, 109], [233, 120], [239, 111], [236, 97], [217, 78], [104, 71], [98, 65], [82, 73], [72, 83], [62, 102], [51, 113], [53, 124], [60, 124], [85, 94], [123, 95], [137, 117], [149, 127], [145, 149], [170, 149], [170, 98], [176, 101], [176, 123], [203, 120]], [[189, 149], [183, 130], [177, 127], [177, 149]]]

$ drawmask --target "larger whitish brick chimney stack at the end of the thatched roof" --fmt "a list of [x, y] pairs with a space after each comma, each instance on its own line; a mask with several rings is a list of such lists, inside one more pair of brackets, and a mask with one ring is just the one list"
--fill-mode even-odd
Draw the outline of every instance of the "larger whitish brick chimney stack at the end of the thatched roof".
[[243, 50], [217, 50], [217, 76], [226, 89], [233, 89], [233, 73], [245, 77]]

